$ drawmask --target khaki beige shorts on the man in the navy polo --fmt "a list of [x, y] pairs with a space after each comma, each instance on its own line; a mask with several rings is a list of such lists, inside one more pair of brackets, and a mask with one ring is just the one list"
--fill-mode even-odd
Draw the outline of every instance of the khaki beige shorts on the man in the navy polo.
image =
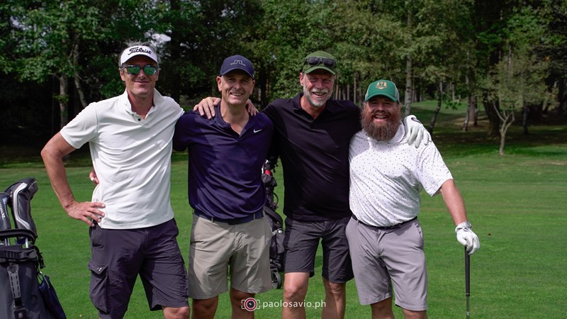
[[208, 299], [230, 287], [246, 293], [271, 289], [269, 242], [266, 218], [229, 225], [193, 214], [189, 250], [189, 297]]

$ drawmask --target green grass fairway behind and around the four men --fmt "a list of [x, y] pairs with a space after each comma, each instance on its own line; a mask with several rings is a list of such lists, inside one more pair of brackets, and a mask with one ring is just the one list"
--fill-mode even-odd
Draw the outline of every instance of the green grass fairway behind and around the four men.
[[[416, 103], [412, 113], [429, 125], [433, 107], [434, 103]], [[500, 156], [500, 141], [486, 138], [485, 119], [481, 118], [479, 127], [461, 131], [463, 113], [462, 108], [442, 109], [434, 142], [454, 175], [481, 241], [481, 249], [471, 257], [471, 318], [567, 318], [567, 125], [532, 125], [527, 136], [514, 125], [506, 155]], [[93, 185], [87, 177], [89, 166], [81, 164], [84, 162], [74, 159], [67, 174], [77, 199], [89, 201]], [[185, 155], [176, 153], [172, 204], [185, 257], [189, 254], [191, 225], [186, 165]], [[45, 259], [43, 272], [51, 277], [67, 317], [96, 318], [86, 269], [90, 257], [88, 226], [64, 213], [43, 164], [31, 161], [3, 167], [8, 168], [0, 169], [0, 188], [23, 177], [38, 179], [39, 191], [32, 201], [39, 233], [37, 245]], [[276, 167], [276, 178], [276, 192], [283, 203], [281, 167]], [[419, 218], [429, 274], [429, 316], [465, 318], [464, 249], [456, 241], [442, 198], [422, 194]], [[324, 299], [321, 262], [319, 252], [305, 299], [312, 306], [307, 308], [308, 318], [320, 318], [321, 310], [315, 304]], [[350, 281], [347, 289], [346, 318], [370, 318], [369, 306], [359, 305], [355, 282]], [[281, 290], [262, 293], [257, 299], [265, 307], [256, 310], [256, 318], [281, 318]], [[399, 309], [395, 315], [403, 318]], [[149, 312], [139, 281], [126, 318], [162, 318], [159, 312]], [[217, 318], [230, 318], [227, 293], [220, 296]]]

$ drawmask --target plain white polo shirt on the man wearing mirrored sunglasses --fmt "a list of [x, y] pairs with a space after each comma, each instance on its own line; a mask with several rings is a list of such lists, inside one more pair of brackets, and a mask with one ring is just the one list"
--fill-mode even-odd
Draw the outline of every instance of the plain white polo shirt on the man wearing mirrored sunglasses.
[[124, 91], [89, 104], [61, 129], [74, 148], [89, 142], [100, 181], [92, 201], [106, 205], [101, 228], [145, 228], [174, 217], [169, 201], [172, 137], [184, 111], [155, 89], [154, 103], [143, 119], [132, 111]]

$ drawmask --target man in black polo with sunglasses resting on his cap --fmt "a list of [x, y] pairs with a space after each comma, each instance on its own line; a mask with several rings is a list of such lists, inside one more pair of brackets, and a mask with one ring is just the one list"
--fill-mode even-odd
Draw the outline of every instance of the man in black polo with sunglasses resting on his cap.
[[[274, 123], [272, 148], [283, 167], [283, 318], [305, 318], [302, 305], [309, 277], [315, 274], [319, 241], [325, 286], [322, 318], [344, 318], [346, 283], [353, 278], [344, 230], [352, 215], [349, 142], [361, 130], [360, 108], [352, 101], [332, 99], [335, 67], [335, 57], [329, 53], [311, 53], [299, 73], [303, 92], [293, 99], [277, 99], [262, 111]], [[195, 109], [201, 115], [214, 115], [213, 103], [217, 101], [203, 99]], [[408, 141], [427, 143], [427, 130], [418, 121], [406, 121], [408, 118], [404, 121]]]

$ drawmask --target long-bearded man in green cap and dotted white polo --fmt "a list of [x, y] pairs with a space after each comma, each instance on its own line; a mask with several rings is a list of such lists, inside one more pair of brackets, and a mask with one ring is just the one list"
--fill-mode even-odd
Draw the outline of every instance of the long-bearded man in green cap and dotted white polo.
[[468, 254], [478, 237], [466, 218], [463, 198], [437, 147], [414, 147], [403, 138], [400, 94], [393, 82], [378, 80], [366, 91], [362, 130], [350, 142], [350, 208], [347, 240], [361, 305], [372, 318], [427, 318], [427, 269], [417, 214], [420, 191], [442, 194], [456, 225], [456, 239]]

